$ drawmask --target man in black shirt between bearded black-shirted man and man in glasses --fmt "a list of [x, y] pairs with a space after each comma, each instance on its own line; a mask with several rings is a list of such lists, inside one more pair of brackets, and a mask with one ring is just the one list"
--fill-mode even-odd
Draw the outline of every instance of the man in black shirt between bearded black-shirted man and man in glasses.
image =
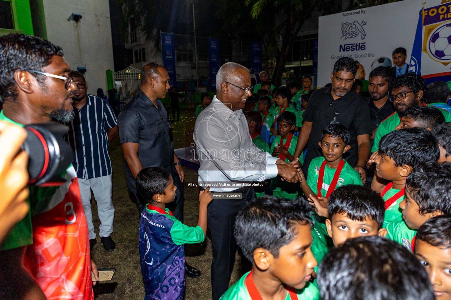
[[373, 147], [377, 126], [396, 111], [393, 103], [387, 101], [390, 78], [391, 71], [387, 67], [379, 66], [369, 73], [368, 91], [370, 97], [367, 99], [367, 103], [372, 132], [370, 136], [371, 147]]

